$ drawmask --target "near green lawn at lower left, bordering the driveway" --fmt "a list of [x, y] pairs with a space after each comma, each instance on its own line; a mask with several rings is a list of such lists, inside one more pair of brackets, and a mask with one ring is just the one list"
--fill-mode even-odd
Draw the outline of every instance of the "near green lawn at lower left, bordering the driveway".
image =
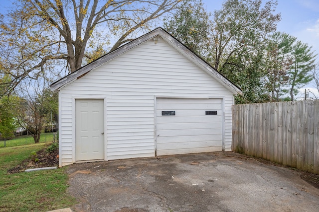
[[68, 208], [76, 203], [67, 194], [68, 175], [65, 168], [8, 174], [30, 157], [31, 152], [46, 148], [38, 143], [0, 148], [0, 212], [46, 212]]

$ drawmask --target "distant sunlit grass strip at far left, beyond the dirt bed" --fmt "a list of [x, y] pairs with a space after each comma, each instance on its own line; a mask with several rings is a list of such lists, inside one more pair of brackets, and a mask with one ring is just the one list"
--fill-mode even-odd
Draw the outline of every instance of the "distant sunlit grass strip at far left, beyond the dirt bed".
[[[53, 141], [52, 133], [41, 133], [40, 143], [48, 143]], [[19, 136], [12, 140], [5, 141], [5, 146], [20, 146], [26, 144], [34, 144], [34, 139], [32, 136]], [[4, 147], [4, 141], [0, 141], [0, 148]]]

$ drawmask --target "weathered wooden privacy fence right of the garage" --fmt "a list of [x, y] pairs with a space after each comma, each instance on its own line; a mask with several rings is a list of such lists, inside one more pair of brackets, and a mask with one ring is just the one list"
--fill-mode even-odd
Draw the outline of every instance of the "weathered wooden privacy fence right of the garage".
[[319, 174], [319, 100], [233, 105], [232, 150]]

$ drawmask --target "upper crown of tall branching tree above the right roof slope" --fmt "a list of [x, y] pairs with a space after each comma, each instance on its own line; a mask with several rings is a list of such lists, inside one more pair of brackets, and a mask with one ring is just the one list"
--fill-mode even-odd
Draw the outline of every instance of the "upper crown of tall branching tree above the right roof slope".
[[[226, 72], [227, 66], [237, 66], [231, 60], [236, 53], [261, 49], [265, 37], [276, 30], [280, 14], [273, 14], [277, 1], [227, 0], [214, 12], [213, 62], [216, 70]], [[242, 62], [239, 60], [239, 64]]]

